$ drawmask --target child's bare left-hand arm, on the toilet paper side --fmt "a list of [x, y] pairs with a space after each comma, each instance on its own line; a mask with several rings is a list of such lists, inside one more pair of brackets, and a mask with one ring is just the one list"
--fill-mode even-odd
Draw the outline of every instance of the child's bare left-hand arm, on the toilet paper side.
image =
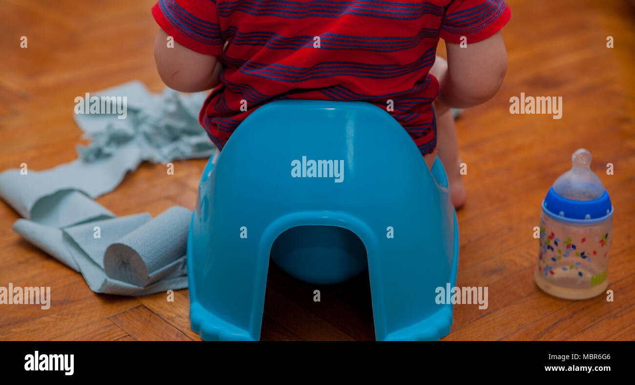
[[167, 37], [168, 34], [159, 29], [154, 40], [154, 60], [166, 86], [182, 92], [205, 91], [217, 86], [222, 68], [218, 56], [197, 53], [176, 41], [174, 48], [168, 48]]

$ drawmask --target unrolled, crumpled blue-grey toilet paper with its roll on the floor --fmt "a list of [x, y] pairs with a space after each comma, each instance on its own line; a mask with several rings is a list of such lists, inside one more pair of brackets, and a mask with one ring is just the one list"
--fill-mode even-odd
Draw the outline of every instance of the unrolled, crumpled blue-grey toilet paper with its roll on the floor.
[[[116, 218], [93, 199], [110, 192], [144, 160], [205, 158], [217, 149], [197, 121], [204, 93], [151, 94], [138, 82], [97, 96], [125, 96], [126, 119], [76, 114], [88, 146], [79, 159], [44, 171], [0, 174], [0, 197], [24, 219], [13, 230], [81, 272], [91, 290], [140, 296], [187, 287], [185, 245], [191, 212], [175, 206], [156, 218]], [[143, 197], [140, 197], [143, 199]]]

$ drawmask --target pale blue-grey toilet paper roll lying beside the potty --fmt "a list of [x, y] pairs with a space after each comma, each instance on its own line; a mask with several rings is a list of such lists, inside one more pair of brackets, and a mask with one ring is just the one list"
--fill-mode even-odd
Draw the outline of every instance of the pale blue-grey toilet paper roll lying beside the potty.
[[192, 212], [170, 207], [156, 218], [109, 245], [104, 271], [110, 278], [145, 286], [170, 275], [184, 258]]

